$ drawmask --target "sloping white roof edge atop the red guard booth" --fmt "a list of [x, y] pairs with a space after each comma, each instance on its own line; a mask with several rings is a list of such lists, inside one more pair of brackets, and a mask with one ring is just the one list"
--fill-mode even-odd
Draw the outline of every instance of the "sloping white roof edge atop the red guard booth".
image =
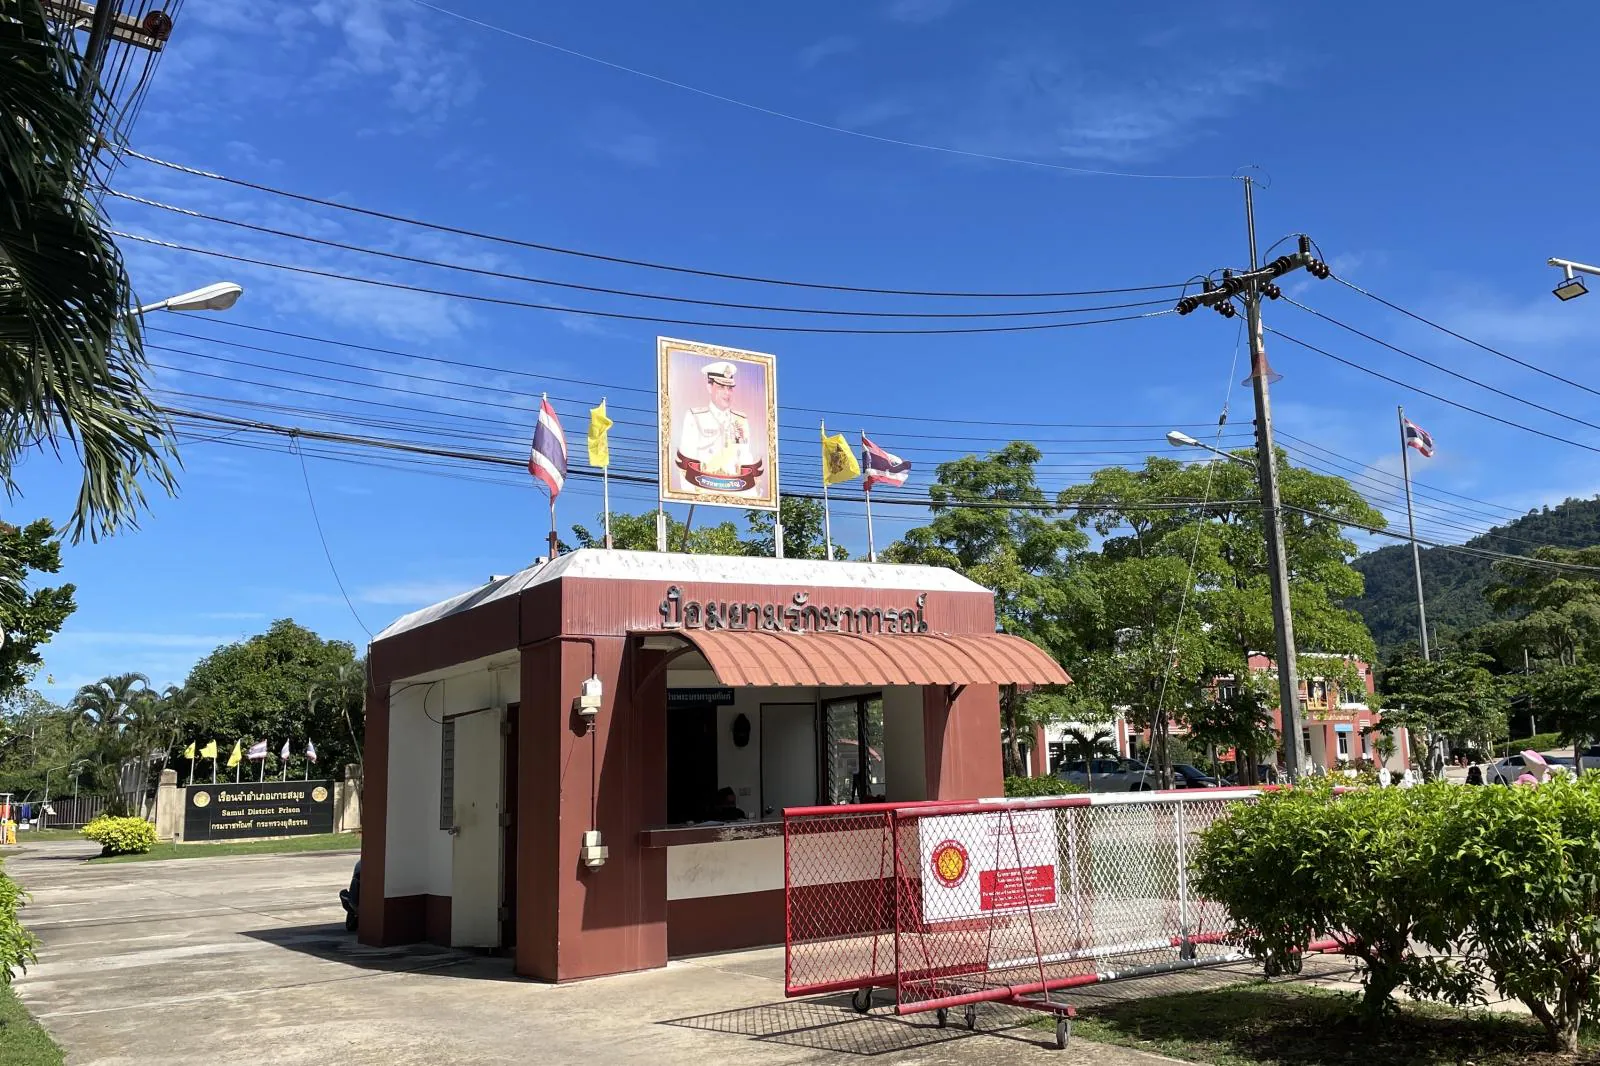
[[910, 592], [987, 592], [944, 567], [827, 562], [822, 559], [765, 559], [752, 555], [685, 555], [678, 552], [624, 552], [597, 547], [539, 562], [526, 570], [469, 589], [461, 595], [402, 615], [373, 640], [459, 615], [482, 603], [517, 595], [560, 578], [656, 581], [669, 584], [786, 584], [810, 589], [906, 589]]

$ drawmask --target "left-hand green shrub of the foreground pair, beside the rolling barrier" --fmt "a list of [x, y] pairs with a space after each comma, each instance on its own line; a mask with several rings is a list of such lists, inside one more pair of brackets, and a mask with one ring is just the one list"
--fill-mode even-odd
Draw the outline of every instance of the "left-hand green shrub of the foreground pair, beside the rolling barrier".
[[1434, 917], [1430, 844], [1448, 784], [1360, 789], [1322, 784], [1240, 804], [1200, 834], [1197, 890], [1224, 904], [1232, 938], [1270, 972], [1296, 972], [1320, 936], [1362, 960], [1362, 1008], [1376, 1021], [1392, 994], [1467, 1002], [1475, 981], [1462, 967], [1411, 951]]

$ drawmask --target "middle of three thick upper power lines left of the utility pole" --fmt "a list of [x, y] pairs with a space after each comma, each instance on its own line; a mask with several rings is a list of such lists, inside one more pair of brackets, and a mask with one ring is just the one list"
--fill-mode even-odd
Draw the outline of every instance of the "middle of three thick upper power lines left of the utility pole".
[[478, 277], [490, 277], [501, 282], [525, 282], [528, 285], [546, 285], [550, 288], [570, 288], [581, 293], [598, 293], [603, 296], [627, 296], [632, 299], [659, 299], [662, 303], [672, 304], [691, 304], [696, 307], [723, 307], [730, 311], [762, 311], [774, 314], [794, 314], [794, 315], [838, 315], [853, 319], [1038, 319], [1051, 315], [1075, 315], [1090, 314], [1099, 311], [1126, 311], [1128, 307], [1162, 307], [1170, 304], [1170, 299], [1138, 299], [1133, 303], [1122, 304], [1101, 304], [1096, 307], [1045, 307], [1035, 311], [846, 311], [832, 307], [786, 307], [779, 304], [741, 304], [725, 299], [699, 299], [693, 296], [674, 296], [670, 293], [642, 293], [627, 288], [606, 288], [603, 285], [582, 285], [579, 282], [562, 282], [549, 277], [531, 277], [528, 274], [512, 274], [509, 271], [491, 271], [488, 267], [467, 266], [464, 262], [448, 262], [443, 259], [429, 259], [426, 256], [408, 256], [398, 251], [386, 251], [382, 248], [368, 248], [365, 245], [352, 245], [342, 240], [331, 240], [326, 237], [312, 237], [310, 234], [298, 234], [288, 229], [277, 229], [272, 226], [258, 226], [254, 222], [245, 222], [240, 219], [222, 218], [219, 214], [206, 214], [205, 211], [195, 211], [192, 208], [181, 208], [171, 203], [162, 203], [160, 200], [147, 200], [144, 197], [136, 197], [126, 192], [110, 190], [110, 195], [128, 200], [131, 203], [142, 203], [144, 206], [160, 208], [163, 211], [174, 211], [189, 218], [205, 219], [208, 222], [221, 222], [222, 226], [235, 226], [238, 229], [248, 229], [256, 234], [267, 234], [270, 237], [283, 237], [288, 240], [299, 240], [310, 245], [318, 245], [322, 248], [338, 248], [339, 251], [354, 251], [366, 256], [378, 256], [382, 259], [390, 259], [395, 262], [410, 262], [411, 266], [426, 266], [442, 271], [459, 271], [462, 274], [474, 274]]

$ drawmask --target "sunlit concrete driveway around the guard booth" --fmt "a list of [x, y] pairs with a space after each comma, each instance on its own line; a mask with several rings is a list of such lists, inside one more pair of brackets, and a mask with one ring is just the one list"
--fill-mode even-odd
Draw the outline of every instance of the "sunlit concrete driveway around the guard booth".
[[40, 938], [18, 991], [75, 1066], [1170, 1061], [1080, 1040], [1046, 1052], [1050, 1034], [1010, 1008], [986, 1008], [968, 1034], [859, 1018], [840, 999], [786, 1002], [781, 949], [549, 986], [504, 959], [362, 948], [338, 901], [354, 853], [85, 866], [91, 853], [5, 855]]

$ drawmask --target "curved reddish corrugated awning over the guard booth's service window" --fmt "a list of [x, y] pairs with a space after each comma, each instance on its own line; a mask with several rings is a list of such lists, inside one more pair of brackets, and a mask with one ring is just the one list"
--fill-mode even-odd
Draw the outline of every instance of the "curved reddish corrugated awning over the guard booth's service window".
[[1066, 685], [1067, 672], [1022, 637], [672, 629], [723, 685]]

